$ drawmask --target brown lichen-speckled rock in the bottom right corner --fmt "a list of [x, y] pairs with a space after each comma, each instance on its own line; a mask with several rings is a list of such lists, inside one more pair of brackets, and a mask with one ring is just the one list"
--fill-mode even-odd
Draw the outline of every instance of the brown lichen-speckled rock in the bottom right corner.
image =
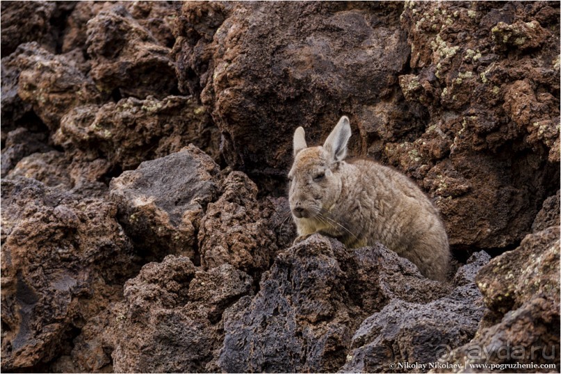
[[549, 227], [524, 238], [520, 247], [493, 259], [475, 278], [488, 310], [475, 339], [450, 353], [450, 364], [469, 372], [475, 364], [554, 364], [560, 370], [560, 233]]

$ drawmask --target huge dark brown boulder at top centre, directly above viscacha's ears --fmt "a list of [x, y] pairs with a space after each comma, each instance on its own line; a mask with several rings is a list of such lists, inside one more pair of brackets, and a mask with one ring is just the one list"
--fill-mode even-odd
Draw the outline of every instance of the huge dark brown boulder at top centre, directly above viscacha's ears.
[[[342, 113], [351, 114], [364, 142], [364, 127], [378, 109], [391, 112], [388, 117], [401, 112], [392, 120], [409, 128], [396, 132], [415, 127], [419, 113], [396, 102], [397, 75], [409, 58], [400, 7], [184, 3], [174, 46], [179, 86], [200, 92], [222, 131], [229, 165], [250, 177], [282, 178], [298, 126], [319, 140]], [[380, 105], [382, 98], [388, 106]], [[360, 143], [355, 138], [352, 148]]]

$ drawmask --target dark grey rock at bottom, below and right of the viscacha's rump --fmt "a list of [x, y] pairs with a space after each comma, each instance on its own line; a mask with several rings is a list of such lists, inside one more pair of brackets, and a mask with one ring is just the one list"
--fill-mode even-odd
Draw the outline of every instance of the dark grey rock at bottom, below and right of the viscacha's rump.
[[431, 364], [442, 352], [467, 343], [483, 315], [482, 295], [474, 278], [489, 262], [485, 252], [473, 254], [454, 279], [456, 288], [426, 304], [391, 300], [369, 316], [352, 337], [345, 373], [404, 373], [415, 368], [392, 367], [396, 363]]

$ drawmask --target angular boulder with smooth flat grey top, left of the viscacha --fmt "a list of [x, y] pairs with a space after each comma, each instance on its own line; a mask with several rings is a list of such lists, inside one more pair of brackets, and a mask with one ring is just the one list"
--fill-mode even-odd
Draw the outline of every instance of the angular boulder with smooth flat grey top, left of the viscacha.
[[113, 179], [111, 199], [127, 235], [156, 259], [182, 254], [194, 260], [200, 220], [218, 194], [218, 171], [210, 156], [189, 145]]

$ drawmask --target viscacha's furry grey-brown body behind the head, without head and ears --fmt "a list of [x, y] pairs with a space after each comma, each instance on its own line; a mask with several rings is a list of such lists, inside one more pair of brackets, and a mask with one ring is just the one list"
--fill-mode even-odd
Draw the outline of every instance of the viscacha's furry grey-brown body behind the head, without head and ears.
[[[450, 250], [437, 209], [413, 181], [400, 172], [368, 159], [349, 160], [348, 184], [341, 206], [353, 235], [349, 247], [380, 242], [421, 270], [423, 275], [444, 280]], [[343, 194], [344, 197], [344, 194]]]

